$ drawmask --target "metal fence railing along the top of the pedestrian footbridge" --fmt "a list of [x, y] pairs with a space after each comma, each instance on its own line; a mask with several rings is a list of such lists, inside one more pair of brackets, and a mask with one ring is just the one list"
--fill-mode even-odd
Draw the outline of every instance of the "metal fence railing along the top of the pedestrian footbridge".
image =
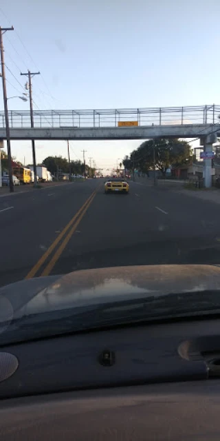
[[[131, 125], [184, 125], [219, 123], [220, 105], [191, 107], [149, 107], [114, 110], [34, 110], [34, 127], [118, 127], [126, 121]], [[10, 127], [30, 127], [30, 112], [10, 110]], [[0, 112], [0, 127], [5, 116]]]

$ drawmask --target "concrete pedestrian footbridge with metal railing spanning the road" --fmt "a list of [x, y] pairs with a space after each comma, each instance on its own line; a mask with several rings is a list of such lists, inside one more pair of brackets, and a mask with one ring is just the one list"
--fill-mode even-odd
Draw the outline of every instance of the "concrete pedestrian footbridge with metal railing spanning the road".
[[[104, 140], [201, 138], [220, 135], [220, 105], [146, 107], [114, 110], [11, 110], [10, 139]], [[6, 139], [5, 116], [0, 112], [0, 139]], [[206, 141], [207, 142], [207, 141]], [[209, 139], [214, 142], [214, 137]]]

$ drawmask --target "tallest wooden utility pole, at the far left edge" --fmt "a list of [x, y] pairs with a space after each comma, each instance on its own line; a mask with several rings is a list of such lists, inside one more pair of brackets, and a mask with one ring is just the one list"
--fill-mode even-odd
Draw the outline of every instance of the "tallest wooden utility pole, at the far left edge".
[[11, 154], [11, 143], [10, 143], [10, 127], [8, 121], [8, 99], [7, 99], [7, 89], [5, 81], [5, 59], [4, 59], [4, 48], [3, 48], [3, 34], [8, 30], [14, 30], [13, 26], [11, 28], [1, 28], [0, 26], [0, 52], [1, 52], [1, 77], [3, 85], [3, 101], [4, 101], [4, 111], [5, 111], [5, 130], [6, 130], [6, 140], [7, 140], [7, 153], [8, 153], [8, 176], [9, 176], [9, 187], [10, 192], [14, 192], [14, 183], [12, 181], [12, 154]]

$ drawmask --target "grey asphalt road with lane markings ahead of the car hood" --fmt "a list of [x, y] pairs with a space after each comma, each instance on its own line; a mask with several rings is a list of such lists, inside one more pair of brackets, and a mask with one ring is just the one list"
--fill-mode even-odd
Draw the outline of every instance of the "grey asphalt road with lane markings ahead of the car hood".
[[77, 269], [170, 263], [220, 264], [220, 205], [104, 180], [0, 198], [0, 285]]

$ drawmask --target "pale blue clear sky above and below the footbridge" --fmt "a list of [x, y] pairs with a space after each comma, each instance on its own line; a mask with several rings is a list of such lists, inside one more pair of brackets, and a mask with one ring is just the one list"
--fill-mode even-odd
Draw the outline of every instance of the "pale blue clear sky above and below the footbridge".
[[[8, 96], [22, 93], [29, 68], [41, 71], [40, 109], [220, 104], [219, 14], [219, 0], [3, 0], [0, 25], [14, 25], [4, 35]], [[139, 144], [72, 141], [71, 157], [85, 149], [113, 167]], [[31, 163], [30, 141], [12, 142], [12, 154]], [[65, 141], [36, 142], [37, 162], [50, 154], [67, 156]]]

